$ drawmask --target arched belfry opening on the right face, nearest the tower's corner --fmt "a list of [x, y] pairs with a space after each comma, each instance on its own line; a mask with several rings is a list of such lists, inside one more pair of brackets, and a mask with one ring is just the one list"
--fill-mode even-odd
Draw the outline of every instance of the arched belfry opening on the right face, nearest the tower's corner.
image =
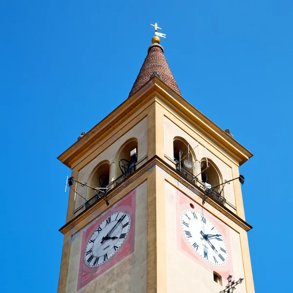
[[193, 162], [195, 161], [195, 155], [193, 154], [192, 148], [188, 142], [186, 142], [181, 137], [175, 137], [173, 140], [173, 154], [174, 161], [176, 163], [176, 169], [179, 170], [179, 168], [183, 167], [191, 174], [194, 173], [192, 166]]

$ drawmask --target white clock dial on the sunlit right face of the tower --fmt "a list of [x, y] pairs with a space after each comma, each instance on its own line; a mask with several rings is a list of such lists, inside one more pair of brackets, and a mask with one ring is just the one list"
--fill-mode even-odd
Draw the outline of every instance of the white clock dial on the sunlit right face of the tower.
[[191, 247], [202, 258], [216, 266], [228, 260], [228, 249], [217, 228], [203, 214], [186, 209], [181, 213], [181, 227]]

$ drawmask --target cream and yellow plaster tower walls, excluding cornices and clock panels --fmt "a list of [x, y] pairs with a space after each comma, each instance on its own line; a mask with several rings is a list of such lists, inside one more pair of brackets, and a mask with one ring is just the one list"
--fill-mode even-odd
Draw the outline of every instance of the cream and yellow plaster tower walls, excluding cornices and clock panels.
[[[208, 157], [221, 170], [223, 179], [229, 180], [239, 176], [237, 158], [232, 157], [220, 145], [209, 139], [207, 133], [200, 127], [190, 124], [187, 117], [184, 116], [185, 114], [167, 105], [166, 99], [161, 94], [152, 92], [144, 99], [146, 99], [146, 102], [142, 105], [137, 104], [131, 116], [125, 118], [121, 123], [111, 126], [101, 140], [97, 140], [93, 147], [84, 152], [77, 160], [72, 161], [72, 175], [75, 178], [78, 178], [81, 182], [86, 182], [95, 166], [99, 162], [108, 160], [110, 164], [110, 180], [115, 179], [116, 171], [113, 170], [117, 168], [115, 164], [117, 151], [120, 146], [132, 137], [138, 140], [138, 160], [147, 155], [147, 158], [138, 167], [155, 155], [172, 166], [173, 138], [175, 136], [183, 137], [192, 147], [197, 145], [198, 139], [200, 147], [199, 150], [195, 149], [194, 153], [199, 160], [206, 156], [205, 146], [207, 145]], [[137, 100], [143, 101], [143, 98], [138, 97]], [[223, 290], [223, 288], [218, 290], [219, 285], [213, 281], [212, 276], [207, 274], [205, 269], [195, 266], [193, 261], [186, 256], [183, 257], [176, 251], [176, 242], [173, 239], [176, 236], [176, 230], [174, 233], [176, 217], [172, 197], [175, 187], [182, 190], [199, 204], [201, 204], [202, 199], [158, 166], [146, 171], [142, 177], [144, 179], [141, 179], [141, 182], [142, 180], [147, 180], [139, 186], [139, 191], [137, 192], [135, 251], [125, 260], [91, 281], [80, 292], [189, 293], [196, 288], [198, 292], [214, 293]], [[125, 195], [138, 184], [134, 181], [129, 186], [126, 186], [124, 189]], [[167, 193], [165, 193], [165, 188]], [[85, 196], [85, 188], [79, 187], [78, 192]], [[111, 198], [109, 207], [122, 197], [121, 193], [119, 196], [116, 194]], [[228, 208], [244, 219], [240, 183], [234, 181], [233, 184], [225, 187], [224, 195], [230, 202]], [[66, 222], [73, 219], [73, 210], [84, 202], [79, 196], [76, 197], [75, 202], [73, 198], [74, 192], [70, 191]], [[234, 206], [237, 210], [235, 210]], [[246, 231], [208, 203], [206, 203], [205, 208], [229, 225], [233, 243], [232, 253], [236, 255], [235, 265], [237, 271], [235, 272], [239, 274], [243, 272], [247, 281], [245, 283], [247, 291], [239, 289], [239, 293], [253, 293]], [[81, 236], [79, 233], [94, 219], [95, 215], [101, 214], [105, 209], [107, 209], [106, 205], [101, 204], [94, 213], [84, 218], [82, 222], [78, 222], [70, 230], [70, 233], [65, 233], [58, 293], [76, 292], [77, 268], [79, 267], [81, 252]], [[75, 235], [75, 240], [71, 241], [68, 234]], [[123, 269], [125, 268], [125, 271], [129, 270], [127, 274], [124, 273]], [[68, 277], [65, 278], [67, 269]], [[184, 272], [186, 275], [184, 275]], [[195, 278], [194, 272], [198, 273], [198, 278]], [[115, 280], [113, 281], [113, 287], [109, 287], [109, 280]], [[190, 285], [190, 280], [194, 285], [191, 288], [186, 287]], [[210, 286], [206, 287], [206, 283], [209, 283]], [[245, 286], [243, 284], [243, 287]], [[188, 291], [184, 291], [188, 288]]]

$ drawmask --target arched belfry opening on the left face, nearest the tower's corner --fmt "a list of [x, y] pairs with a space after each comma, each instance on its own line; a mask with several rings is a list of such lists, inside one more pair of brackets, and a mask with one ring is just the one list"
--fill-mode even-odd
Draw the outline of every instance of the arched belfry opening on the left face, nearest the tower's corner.
[[136, 140], [131, 140], [123, 146], [117, 158], [117, 177], [123, 174], [127, 177], [135, 171], [137, 153], [138, 144]]

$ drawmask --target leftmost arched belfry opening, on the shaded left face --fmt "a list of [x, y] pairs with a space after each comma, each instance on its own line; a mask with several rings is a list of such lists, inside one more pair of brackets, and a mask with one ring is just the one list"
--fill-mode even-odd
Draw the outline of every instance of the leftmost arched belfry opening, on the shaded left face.
[[[92, 174], [89, 185], [92, 187], [105, 188], [109, 184], [110, 165], [108, 162], [102, 163]], [[96, 195], [96, 191], [88, 188], [87, 199]]]

